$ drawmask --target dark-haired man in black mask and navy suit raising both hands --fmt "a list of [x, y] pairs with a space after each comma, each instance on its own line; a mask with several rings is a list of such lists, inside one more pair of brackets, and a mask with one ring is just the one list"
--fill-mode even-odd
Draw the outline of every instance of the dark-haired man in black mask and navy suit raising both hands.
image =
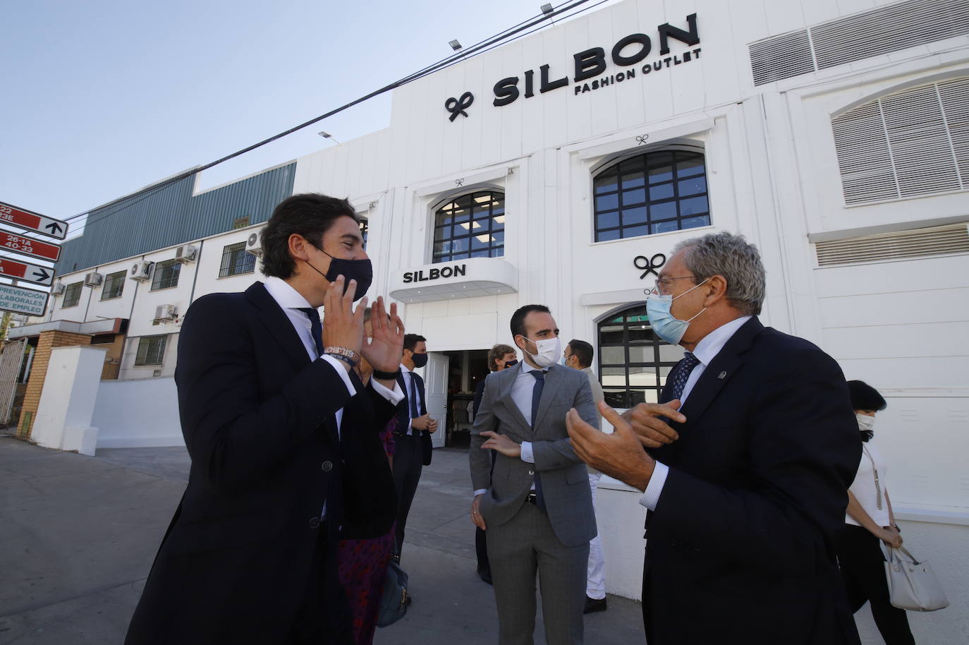
[[[192, 466], [131, 645], [349, 642], [340, 527], [391, 528], [378, 433], [403, 397], [403, 323], [378, 299], [362, 339], [366, 302], [352, 303], [371, 268], [356, 214], [345, 200], [295, 195], [262, 236], [266, 284], [203, 296], [182, 324], [175, 384]], [[352, 372], [360, 354], [374, 369], [365, 387]]]

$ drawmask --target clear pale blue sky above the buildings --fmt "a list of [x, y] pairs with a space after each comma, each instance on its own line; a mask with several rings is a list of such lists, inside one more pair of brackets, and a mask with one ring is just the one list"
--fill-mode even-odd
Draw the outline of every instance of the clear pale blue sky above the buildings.
[[[326, 113], [450, 55], [450, 40], [469, 47], [542, 4], [5, 0], [0, 201], [60, 219], [91, 210]], [[320, 130], [340, 142], [379, 130], [390, 112], [388, 93], [206, 171], [202, 185], [333, 145]]]

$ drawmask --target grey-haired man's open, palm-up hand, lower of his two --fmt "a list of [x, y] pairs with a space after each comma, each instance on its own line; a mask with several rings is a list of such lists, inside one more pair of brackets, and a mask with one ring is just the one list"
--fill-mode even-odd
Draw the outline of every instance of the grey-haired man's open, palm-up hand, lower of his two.
[[569, 410], [565, 427], [572, 438], [573, 450], [592, 468], [644, 491], [656, 462], [646, 454], [640, 436], [618, 412], [604, 402], [599, 402], [599, 411], [615, 428], [611, 435], [582, 421], [576, 408]]

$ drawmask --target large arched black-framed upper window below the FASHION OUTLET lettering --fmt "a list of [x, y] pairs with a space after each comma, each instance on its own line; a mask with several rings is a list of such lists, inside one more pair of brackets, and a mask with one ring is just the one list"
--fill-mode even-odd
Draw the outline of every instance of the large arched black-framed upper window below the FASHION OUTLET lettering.
[[658, 150], [623, 159], [594, 181], [596, 242], [708, 226], [702, 152]]

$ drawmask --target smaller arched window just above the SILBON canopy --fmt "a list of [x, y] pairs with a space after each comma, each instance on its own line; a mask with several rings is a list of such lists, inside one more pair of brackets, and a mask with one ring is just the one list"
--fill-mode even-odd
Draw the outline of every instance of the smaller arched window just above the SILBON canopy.
[[505, 195], [483, 190], [434, 211], [431, 262], [498, 258], [505, 254]]

